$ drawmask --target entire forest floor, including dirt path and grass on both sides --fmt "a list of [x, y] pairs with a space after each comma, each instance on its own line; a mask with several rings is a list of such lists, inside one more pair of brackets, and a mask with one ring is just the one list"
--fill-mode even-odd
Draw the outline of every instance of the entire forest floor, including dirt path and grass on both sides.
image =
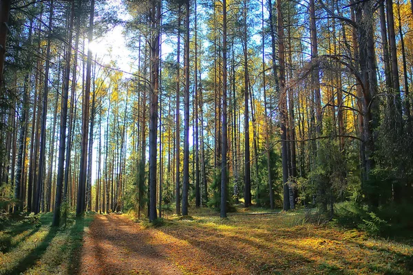
[[0, 224], [0, 274], [413, 274], [413, 242], [370, 238], [304, 212], [220, 219], [211, 209], [166, 215], [160, 226], [131, 214], [71, 215]]

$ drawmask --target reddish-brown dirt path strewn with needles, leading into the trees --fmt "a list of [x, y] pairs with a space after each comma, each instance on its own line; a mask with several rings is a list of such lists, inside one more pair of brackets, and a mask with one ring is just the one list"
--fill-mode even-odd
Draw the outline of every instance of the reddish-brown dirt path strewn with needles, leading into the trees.
[[96, 215], [85, 234], [80, 274], [182, 274], [168, 243], [118, 214]]

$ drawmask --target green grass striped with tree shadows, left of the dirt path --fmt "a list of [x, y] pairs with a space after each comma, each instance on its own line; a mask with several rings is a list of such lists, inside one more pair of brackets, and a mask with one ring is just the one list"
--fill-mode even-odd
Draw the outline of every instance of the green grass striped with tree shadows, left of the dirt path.
[[86, 214], [67, 226], [52, 228], [52, 213], [39, 219], [14, 219], [2, 223], [0, 274], [74, 274], [78, 270], [83, 232], [93, 219]]

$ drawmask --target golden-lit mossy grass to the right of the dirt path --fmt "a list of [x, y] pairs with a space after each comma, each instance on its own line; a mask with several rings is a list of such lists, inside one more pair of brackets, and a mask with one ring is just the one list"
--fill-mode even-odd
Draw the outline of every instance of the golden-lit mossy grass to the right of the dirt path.
[[207, 208], [189, 213], [191, 219], [165, 214], [166, 226], [145, 228], [153, 245], [170, 244], [170, 259], [184, 274], [413, 274], [409, 243], [305, 223], [303, 210], [228, 219]]

